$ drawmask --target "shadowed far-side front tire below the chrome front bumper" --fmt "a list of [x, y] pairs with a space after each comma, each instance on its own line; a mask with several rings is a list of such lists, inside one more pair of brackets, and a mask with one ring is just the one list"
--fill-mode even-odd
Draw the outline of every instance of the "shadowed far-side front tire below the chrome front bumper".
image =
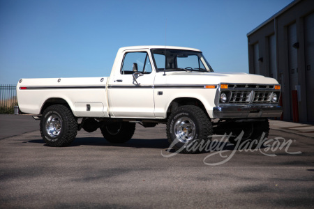
[[[248, 124], [253, 126], [253, 130], [251, 131], [251, 134], [246, 137], [246, 139], [241, 139], [241, 141], [248, 140], [250, 143], [253, 143], [251, 144], [252, 148], [257, 148], [257, 145], [260, 142], [260, 140], [266, 139], [269, 135], [269, 121], [268, 119], [265, 119], [264, 121], [255, 121]], [[240, 133], [236, 133], [236, 135], [238, 134]], [[244, 132], [244, 135], [245, 134], [247, 133]], [[229, 138], [230, 143], [234, 145], [237, 144], [237, 141], [235, 139], [237, 139], [237, 136], [230, 137]]]

